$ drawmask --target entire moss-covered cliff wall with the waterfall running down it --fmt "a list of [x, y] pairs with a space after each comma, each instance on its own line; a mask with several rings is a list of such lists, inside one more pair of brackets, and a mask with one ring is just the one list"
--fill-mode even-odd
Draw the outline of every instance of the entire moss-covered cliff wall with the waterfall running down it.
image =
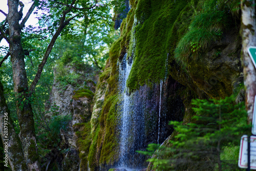
[[136, 151], [166, 142], [173, 133], [170, 120], [188, 123], [191, 99], [224, 98], [243, 82], [240, 14], [231, 11], [237, 1], [203, 2], [130, 0], [120, 38], [95, 93], [90, 89], [93, 99], [81, 95], [63, 109], [71, 111], [73, 125], [78, 115], [83, 118], [73, 138], [79, 170], [146, 168], [146, 157]]

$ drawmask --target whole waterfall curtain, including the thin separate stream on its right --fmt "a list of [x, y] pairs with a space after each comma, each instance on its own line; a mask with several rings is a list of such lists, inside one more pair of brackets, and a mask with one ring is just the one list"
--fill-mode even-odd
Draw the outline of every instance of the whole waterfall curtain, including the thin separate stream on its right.
[[[139, 23], [135, 17], [129, 50], [123, 57], [119, 58], [117, 63], [119, 70], [120, 156], [116, 166], [126, 170], [145, 168], [147, 165], [145, 156], [138, 154], [136, 151], [144, 151], [149, 143], [161, 143], [168, 132], [168, 130], [165, 130], [166, 116], [164, 113], [166, 104], [165, 102], [162, 104], [162, 98], [166, 98], [165, 94], [162, 96], [162, 88], [164, 88], [163, 84], [166, 80], [167, 72], [165, 73], [164, 81], [160, 81], [160, 87], [156, 84], [153, 88], [144, 85], [132, 93], [126, 87], [133, 59], [135, 59], [135, 26]], [[166, 70], [167, 60], [168, 54], [165, 63]], [[160, 99], [158, 96], [159, 88]], [[158, 100], [159, 110], [157, 109], [158, 103], [156, 105]], [[158, 130], [158, 133], [156, 130]]]

